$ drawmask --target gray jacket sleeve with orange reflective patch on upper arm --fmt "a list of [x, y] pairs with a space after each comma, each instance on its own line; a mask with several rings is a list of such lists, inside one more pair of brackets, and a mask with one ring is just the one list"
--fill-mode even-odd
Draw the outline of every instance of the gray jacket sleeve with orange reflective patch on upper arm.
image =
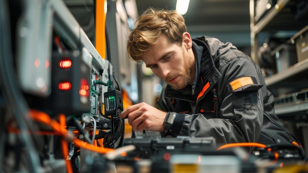
[[[256, 65], [246, 57], [230, 60], [216, 84], [220, 108], [215, 118], [197, 113], [185, 116], [178, 135], [214, 137], [217, 144], [257, 142], [263, 123], [263, 98]], [[219, 105], [216, 105], [219, 106]]]

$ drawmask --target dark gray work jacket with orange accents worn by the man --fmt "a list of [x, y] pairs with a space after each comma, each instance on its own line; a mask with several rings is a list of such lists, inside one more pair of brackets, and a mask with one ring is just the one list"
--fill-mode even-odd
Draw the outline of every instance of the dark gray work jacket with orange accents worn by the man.
[[296, 140], [275, 114], [274, 97], [249, 56], [213, 37], [192, 40], [196, 58], [193, 86], [177, 91], [166, 86], [157, 102], [157, 108], [177, 113], [167, 134], [214, 137], [220, 145]]

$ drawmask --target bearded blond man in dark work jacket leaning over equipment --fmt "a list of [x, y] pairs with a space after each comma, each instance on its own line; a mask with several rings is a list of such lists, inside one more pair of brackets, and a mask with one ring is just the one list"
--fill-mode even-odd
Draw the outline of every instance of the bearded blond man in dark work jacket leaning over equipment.
[[295, 141], [275, 115], [260, 68], [234, 45], [191, 38], [176, 11], [149, 8], [137, 22], [129, 58], [143, 61], [168, 85], [157, 108], [140, 103], [122, 112], [133, 131], [214, 137], [217, 144]]

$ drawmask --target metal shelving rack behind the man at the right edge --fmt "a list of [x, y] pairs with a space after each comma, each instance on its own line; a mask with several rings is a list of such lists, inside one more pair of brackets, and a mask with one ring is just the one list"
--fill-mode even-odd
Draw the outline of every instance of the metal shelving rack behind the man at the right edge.
[[[299, 31], [307, 26], [308, 21], [296, 21], [294, 14], [288, 5], [292, 0], [277, 0], [277, 4], [269, 9], [258, 21], [255, 21], [255, 0], [249, 1], [250, 11], [250, 42], [251, 58], [257, 61], [259, 48], [258, 34], [261, 32], [275, 33], [278, 31]], [[297, 57], [296, 57], [297, 58]], [[308, 58], [308, 57], [307, 57]], [[305, 80], [303, 80], [305, 79]], [[301, 61], [289, 69], [283, 70], [265, 78], [268, 88], [308, 88], [308, 59]], [[304, 96], [304, 97], [303, 97]], [[275, 112], [280, 117], [307, 116], [308, 114], [308, 90], [294, 92], [275, 98]], [[303, 134], [308, 131], [308, 123], [296, 123], [302, 128]], [[304, 135], [304, 143], [308, 154], [308, 137]]]

